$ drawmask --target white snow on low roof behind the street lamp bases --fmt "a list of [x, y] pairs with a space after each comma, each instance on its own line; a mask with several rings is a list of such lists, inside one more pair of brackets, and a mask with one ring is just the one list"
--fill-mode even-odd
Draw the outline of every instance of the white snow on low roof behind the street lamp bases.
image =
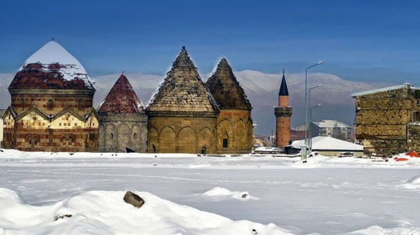
[[[300, 149], [303, 145], [305, 145], [305, 140], [301, 139], [293, 141], [290, 146]], [[363, 146], [329, 136], [316, 136], [312, 138], [312, 150], [363, 151]]]

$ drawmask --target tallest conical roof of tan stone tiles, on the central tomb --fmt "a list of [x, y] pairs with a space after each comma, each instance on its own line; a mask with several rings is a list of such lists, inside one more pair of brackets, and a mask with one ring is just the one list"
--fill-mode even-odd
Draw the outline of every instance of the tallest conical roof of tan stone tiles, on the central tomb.
[[185, 47], [153, 95], [148, 112], [219, 112]]

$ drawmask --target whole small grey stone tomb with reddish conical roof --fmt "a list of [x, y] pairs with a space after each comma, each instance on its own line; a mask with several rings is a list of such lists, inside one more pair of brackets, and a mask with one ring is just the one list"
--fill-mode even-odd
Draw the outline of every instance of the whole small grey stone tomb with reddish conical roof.
[[124, 74], [98, 109], [99, 151], [146, 152], [147, 117], [140, 99]]

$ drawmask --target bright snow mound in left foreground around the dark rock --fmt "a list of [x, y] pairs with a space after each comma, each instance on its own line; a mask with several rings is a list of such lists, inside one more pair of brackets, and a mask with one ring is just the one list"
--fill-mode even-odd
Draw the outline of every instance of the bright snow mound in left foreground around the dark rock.
[[123, 201], [123, 191], [89, 191], [53, 205], [25, 204], [0, 188], [0, 234], [291, 234], [263, 225], [202, 212], [146, 192], [141, 208]]

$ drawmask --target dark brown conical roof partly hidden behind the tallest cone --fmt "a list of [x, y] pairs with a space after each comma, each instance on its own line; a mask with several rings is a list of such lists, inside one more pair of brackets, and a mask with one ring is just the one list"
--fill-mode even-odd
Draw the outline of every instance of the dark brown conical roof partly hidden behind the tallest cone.
[[225, 58], [219, 61], [206, 86], [221, 109], [253, 108]]

